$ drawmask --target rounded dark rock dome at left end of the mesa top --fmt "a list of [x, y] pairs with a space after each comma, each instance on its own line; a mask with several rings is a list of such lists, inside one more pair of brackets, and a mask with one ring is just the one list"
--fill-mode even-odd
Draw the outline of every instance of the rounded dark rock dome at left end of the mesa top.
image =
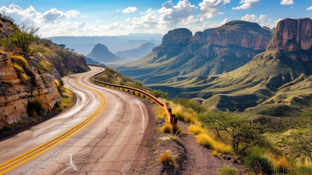
[[[162, 44], [178, 44], [179, 42], [189, 43], [192, 37], [192, 32], [187, 28], [176, 28], [168, 31], [162, 38]], [[185, 40], [185, 38], [188, 38]]]

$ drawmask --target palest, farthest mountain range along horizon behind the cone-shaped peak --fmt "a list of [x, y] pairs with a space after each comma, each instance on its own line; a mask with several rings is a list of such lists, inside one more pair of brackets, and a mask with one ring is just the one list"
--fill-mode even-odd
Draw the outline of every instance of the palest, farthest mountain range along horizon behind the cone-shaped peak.
[[47, 39], [57, 44], [65, 44], [67, 48], [75, 49], [79, 54], [87, 55], [95, 44], [105, 44], [113, 53], [126, 51], [140, 47], [146, 42], [159, 45], [162, 34], [130, 33], [129, 35], [118, 36], [53, 36]]

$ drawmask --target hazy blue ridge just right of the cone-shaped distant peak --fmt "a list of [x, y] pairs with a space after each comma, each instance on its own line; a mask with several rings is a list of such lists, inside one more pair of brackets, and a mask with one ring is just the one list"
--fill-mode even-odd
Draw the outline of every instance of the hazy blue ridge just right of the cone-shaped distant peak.
[[116, 52], [115, 55], [121, 58], [141, 58], [150, 53], [155, 46], [154, 43], [147, 42], [135, 49]]

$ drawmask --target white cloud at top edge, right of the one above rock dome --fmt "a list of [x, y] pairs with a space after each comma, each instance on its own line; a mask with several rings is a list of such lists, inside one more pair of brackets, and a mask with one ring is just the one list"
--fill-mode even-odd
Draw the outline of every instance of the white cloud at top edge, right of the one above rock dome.
[[214, 17], [218, 14], [218, 8], [222, 7], [226, 3], [230, 3], [231, 0], [203, 0], [199, 2], [199, 15], [200, 20]]

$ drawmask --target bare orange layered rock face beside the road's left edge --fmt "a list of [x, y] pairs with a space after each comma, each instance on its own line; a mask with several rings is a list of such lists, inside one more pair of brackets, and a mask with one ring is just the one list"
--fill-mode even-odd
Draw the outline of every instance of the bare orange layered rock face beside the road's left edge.
[[41, 115], [52, 110], [57, 101], [61, 101], [54, 77], [50, 74], [38, 74], [37, 69], [27, 60], [29, 80], [22, 82], [6, 53], [0, 53], [0, 127], [27, 118], [28, 102], [40, 102]]

